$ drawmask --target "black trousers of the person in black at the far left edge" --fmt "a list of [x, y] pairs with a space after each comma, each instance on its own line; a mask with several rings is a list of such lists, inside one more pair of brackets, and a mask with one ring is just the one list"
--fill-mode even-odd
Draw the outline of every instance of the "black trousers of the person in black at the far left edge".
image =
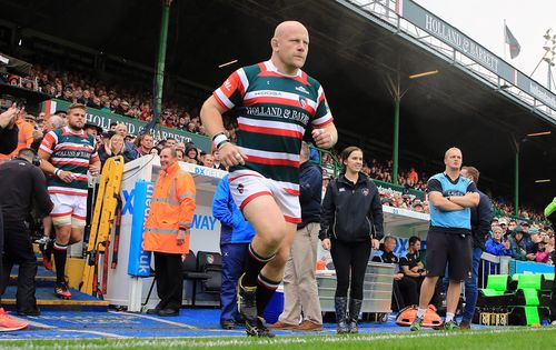
[[0, 294], [3, 294], [10, 281], [10, 272], [13, 264], [19, 264], [18, 291], [16, 293], [16, 307], [18, 311], [27, 311], [37, 308], [34, 298], [34, 278], [37, 277], [37, 258], [34, 257], [31, 238], [24, 222], [3, 222], [4, 252], [2, 257], [2, 280]]

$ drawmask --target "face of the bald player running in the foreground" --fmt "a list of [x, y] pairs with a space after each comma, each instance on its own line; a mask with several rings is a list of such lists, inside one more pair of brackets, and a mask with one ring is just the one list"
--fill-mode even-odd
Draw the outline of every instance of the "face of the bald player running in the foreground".
[[291, 26], [277, 40], [276, 51], [280, 61], [290, 69], [304, 67], [309, 52], [309, 33], [302, 26]]

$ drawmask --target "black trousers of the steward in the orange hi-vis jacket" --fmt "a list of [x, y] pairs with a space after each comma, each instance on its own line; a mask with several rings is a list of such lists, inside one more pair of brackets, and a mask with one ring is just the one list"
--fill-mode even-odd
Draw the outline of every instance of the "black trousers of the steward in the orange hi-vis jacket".
[[160, 302], [157, 308], [179, 310], [183, 293], [181, 254], [155, 252], [155, 276]]

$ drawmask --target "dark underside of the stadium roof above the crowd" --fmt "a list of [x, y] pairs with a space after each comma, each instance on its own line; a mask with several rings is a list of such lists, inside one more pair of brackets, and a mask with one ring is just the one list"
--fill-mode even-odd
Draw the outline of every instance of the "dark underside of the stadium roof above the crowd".
[[[161, 1], [0, 0], [0, 20], [98, 52], [155, 67]], [[454, 64], [397, 31], [384, 18], [355, 11], [347, 1], [175, 0], [170, 13], [167, 72], [214, 89], [235, 69], [269, 58], [277, 23], [296, 19], [310, 33], [306, 71], [317, 78], [346, 143], [390, 152], [394, 99], [388, 81], [403, 90], [400, 159], [418, 167], [436, 162], [457, 146], [464, 162], [476, 166], [486, 184], [513, 194], [513, 138], [522, 148], [522, 202], [542, 207], [556, 194], [554, 118], [509, 98], [483, 77]], [[30, 36], [30, 34], [29, 34]], [[219, 69], [218, 66], [232, 60]], [[437, 74], [409, 79], [415, 73]], [[370, 154], [367, 154], [370, 156]]]

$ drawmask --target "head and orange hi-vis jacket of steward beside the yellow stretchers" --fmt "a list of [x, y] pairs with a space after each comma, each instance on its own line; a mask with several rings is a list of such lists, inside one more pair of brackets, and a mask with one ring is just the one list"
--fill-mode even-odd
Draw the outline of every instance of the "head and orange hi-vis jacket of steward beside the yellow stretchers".
[[143, 249], [183, 254], [189, 252], [196, 188], [192, 177], [180, 169], [176, 158], [165, 160], [165, 157], [172, 158], [171, 150], [165, 150], [165, 154], [160, 153], [162, 171], [155, 184], [149, 218], [145, 223]]

